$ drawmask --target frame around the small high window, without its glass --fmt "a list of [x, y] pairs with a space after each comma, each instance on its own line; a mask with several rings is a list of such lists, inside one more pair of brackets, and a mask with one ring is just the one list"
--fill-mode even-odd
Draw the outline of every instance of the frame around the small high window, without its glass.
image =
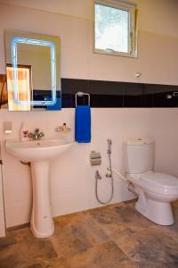
[[[95, 4], [101, 4], [102, 6], [108, 6], [123, 10], [129, 13], [129, 52], [119, 52], [114, 50], [100, 49], [95, 47]], [[125, 3], [118, 0], [93, 0], [93, 53], [96, 54], [109, 54], [118, 55], [131, 58], [137, 58], [137, 38], [138, 38], [138, 20], [137, 20], [137, 8], [135, 4]]]

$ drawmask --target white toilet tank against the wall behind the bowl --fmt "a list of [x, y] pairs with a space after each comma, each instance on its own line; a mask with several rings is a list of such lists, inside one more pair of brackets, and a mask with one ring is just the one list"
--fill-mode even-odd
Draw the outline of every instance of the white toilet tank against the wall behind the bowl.
[[125, 172], [138, 174], [153, 169], [154, 142], [150, 138], [132, 138], [123, 143]]

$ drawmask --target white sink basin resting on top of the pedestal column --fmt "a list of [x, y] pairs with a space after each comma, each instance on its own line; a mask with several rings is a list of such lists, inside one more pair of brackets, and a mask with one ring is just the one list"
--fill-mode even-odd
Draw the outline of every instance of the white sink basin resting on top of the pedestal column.
[[61, 155], [72, 143], [64, 139], [48, 138], [31, 141], [6, 141], [5, 147], [10, 155], [22, 161], [35, 162], [50, 160]]

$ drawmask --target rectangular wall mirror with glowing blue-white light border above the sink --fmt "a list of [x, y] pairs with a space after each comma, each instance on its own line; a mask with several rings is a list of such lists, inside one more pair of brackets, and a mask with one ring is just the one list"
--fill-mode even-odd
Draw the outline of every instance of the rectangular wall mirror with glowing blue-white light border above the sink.
[[5, 30], [10, 111], [61, 110], [60, 38]]

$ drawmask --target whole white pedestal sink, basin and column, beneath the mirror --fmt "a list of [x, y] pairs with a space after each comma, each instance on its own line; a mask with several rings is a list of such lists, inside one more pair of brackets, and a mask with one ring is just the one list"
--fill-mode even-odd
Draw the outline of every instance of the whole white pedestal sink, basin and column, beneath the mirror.
[[36, 238], [53, 234], [54, 224], [50, 202], [50, 161], [71, 147], [72, 143], [58, 138], [32, 141], [6, 141], [10, 155], [30, 162], [33, 186], [33, 207], [30, 228]]

